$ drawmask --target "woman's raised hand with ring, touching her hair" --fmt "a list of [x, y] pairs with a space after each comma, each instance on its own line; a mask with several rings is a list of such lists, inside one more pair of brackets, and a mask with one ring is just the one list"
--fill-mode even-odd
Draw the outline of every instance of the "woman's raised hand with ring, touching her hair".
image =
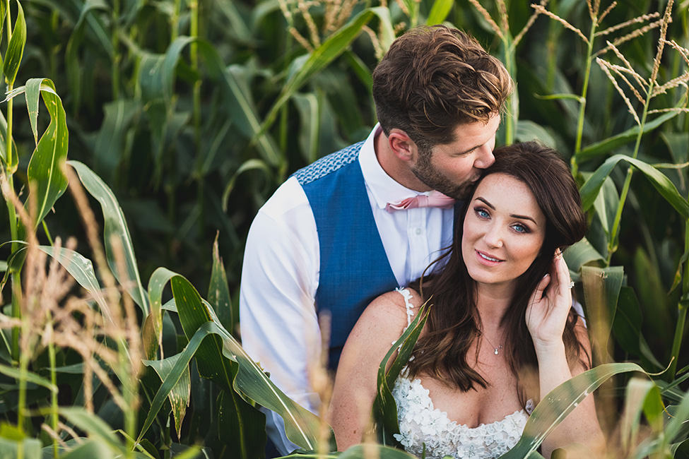
[[[543, 294], [546, 287], [548, 290]], [[534, 340], [536, 352], [553, 345], [562, 345], [563, 331], [571, 307], [570, 271], [558, 249], [550, 265], [550, 272], [538, 282], [529, 299], [529, 306], [526, 307], [526, 327]]]

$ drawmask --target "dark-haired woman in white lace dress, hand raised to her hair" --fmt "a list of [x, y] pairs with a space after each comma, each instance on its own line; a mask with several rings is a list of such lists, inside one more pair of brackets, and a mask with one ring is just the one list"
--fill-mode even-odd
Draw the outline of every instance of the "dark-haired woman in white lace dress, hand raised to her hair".
[[[417, 290], [375, 299], [349, 335], [329, 412], [340, 451], [362, 441], [377, 368], [426, 300], [428, 321], [393, 390], [396, 439], [410, 453], [497, 458], [517, 443], [538, 400], [591, 366], [561, 252], [586, 229], [577, 185], [557, 153], [538, 143], [494, 155], [442, 268]], [[572, 443], [602, 444], [591, 395], [541, 451], [548, 458]]]

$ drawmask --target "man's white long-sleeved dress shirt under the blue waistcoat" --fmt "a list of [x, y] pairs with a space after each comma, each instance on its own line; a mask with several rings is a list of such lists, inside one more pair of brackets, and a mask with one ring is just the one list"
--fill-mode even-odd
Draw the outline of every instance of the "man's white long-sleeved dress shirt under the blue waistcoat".
[[[389, 202], [420, 193], [397, 183], [379, 165], [374, 149], [379, 132], [376, 126], [358, 160], [385, 254], [397, 282], [406, 286], [451, 244], [454, 211], [385, 210]], [[311, 388], [309, 370], [321, 354], [314, 305], [319, 258], [311, 206], [297, 179], [290, 177], [261, 207], [249, 229], [240, 288], [242, 346], [270, 372], [276, 386], [315, 413], [320, 401]], [[286, 438], [278, 415], [266, 410], [266, 424], [278, 451], [286, 454], [297, 448]]]

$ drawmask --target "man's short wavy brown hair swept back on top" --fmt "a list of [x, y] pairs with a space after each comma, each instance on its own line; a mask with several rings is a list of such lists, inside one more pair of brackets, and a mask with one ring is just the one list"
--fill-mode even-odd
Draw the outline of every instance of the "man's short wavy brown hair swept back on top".
[[488, 122], [512, 91], [505, 66], [473, 37], [444, 25], [409, 30], [373, 71], [384, 133], [401, 129], [419, 148], [456, 141], [459, 124]]

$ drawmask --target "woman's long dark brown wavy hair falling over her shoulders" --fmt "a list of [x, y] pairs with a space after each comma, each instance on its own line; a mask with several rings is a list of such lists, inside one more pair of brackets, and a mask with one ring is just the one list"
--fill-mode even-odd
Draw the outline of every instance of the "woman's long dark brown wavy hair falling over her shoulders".
[[[500, 321], [505, 330], [505, 357], [517, 377], [517, 391], [522, 405], [528, 398], [538, 400], [538, 362], [524, 316], [531, 293], [543, 275], [548, 273], [555, 249], [565, 249], [584, 237], [586, 217], [582, 212], [579, 189], [570, 170], [558, 153], [540, 143], [516, 143], [494, 152], [495, 164], [485, 169], [474, 184], [469, 197], [481, 180], [490, 174], [507, 174], [529, 187], [546, 216], [546, 236], [534, 263], [517, 279], [512, 304]], [[408, 363], [410, 376], [429, 374], [461, 391], [485, 388], [488, 382], [469, 364], [467, 352], [479, 338], [481, 319], [476, 310], [476, 282], [469, 277], [461, 258], [461, 237], [464, 217], [469, 208], [466, 201], [456, 222], [454, 242], [446, 254], [435, 261], [441, 266], [437, 273], [416, 282], [424, 299], [430, 298], [430, 314], [426, 333], [418, 340], [413, 359]], [[577, 339], [577, 314], [570, 311], [563, 342], [567, 361], [590, 366], [590, 357]], [[481, 342], [479, 341], [479, 345]], [[476, 351], [478, 358], [478, 347]]]

